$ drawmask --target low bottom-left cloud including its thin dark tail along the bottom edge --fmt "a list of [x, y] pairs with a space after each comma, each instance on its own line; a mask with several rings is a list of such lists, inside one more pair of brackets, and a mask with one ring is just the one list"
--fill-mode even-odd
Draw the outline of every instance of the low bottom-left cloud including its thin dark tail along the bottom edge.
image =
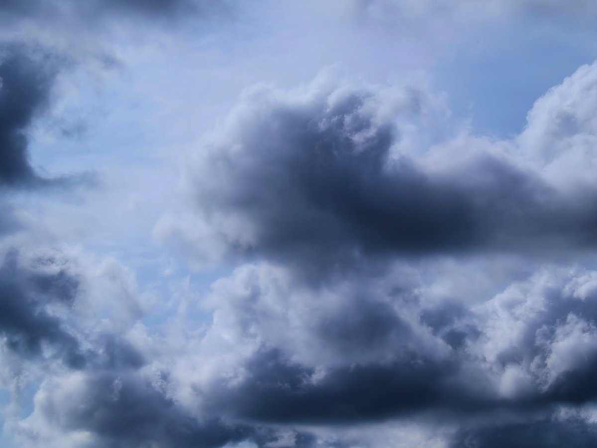
[[167, 386], [162, 376], [147, 378], [139, 370], [78, 372], [42, 388], [33, 417], [64, 434], [86, 431], [94, 446], [216, 448], [242, 441], [260, 448], [315, 446], [315, 436], [306, 431], [290, 431], [284, 443], [289, 431], [196, 416], [170, 397]]

